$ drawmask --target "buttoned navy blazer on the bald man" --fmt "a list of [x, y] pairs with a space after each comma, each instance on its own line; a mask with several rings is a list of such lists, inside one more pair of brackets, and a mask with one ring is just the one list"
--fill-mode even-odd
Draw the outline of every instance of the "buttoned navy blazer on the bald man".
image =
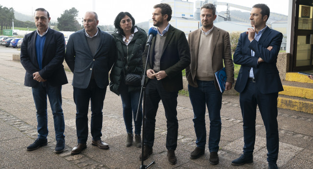
[[68, 39], [65, 61], [74, 74], [74, 87], [87, 88], [92, 70], [98, 87], [109, 85], [109, 71], [116, 58], [115, 41], [112, 35], [98, 29], [97, 36], [100, 36], [101, 41], [94, 56], [89, 49], [85, 29], [73, 33]]

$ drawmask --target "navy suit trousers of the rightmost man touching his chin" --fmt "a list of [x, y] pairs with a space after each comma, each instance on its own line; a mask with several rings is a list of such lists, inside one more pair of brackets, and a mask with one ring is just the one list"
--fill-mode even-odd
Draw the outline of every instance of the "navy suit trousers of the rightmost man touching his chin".
[[252, 154], [254, 150], [258, 105], [266, 129], [269, 163], [276, 163], [278, 158], [277, 97], [278, 93], [260, 93], [255, 82], [247, 82], [245, 90], [240, 93], [240, 107], [244, 120], [244, 153]]

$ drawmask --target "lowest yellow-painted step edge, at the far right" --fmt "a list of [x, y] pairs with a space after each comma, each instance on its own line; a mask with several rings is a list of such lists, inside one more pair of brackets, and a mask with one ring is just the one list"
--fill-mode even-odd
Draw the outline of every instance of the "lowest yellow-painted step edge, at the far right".
[[277, 98], [277, 107], [313, 114], [313, 102], [290, 98]]

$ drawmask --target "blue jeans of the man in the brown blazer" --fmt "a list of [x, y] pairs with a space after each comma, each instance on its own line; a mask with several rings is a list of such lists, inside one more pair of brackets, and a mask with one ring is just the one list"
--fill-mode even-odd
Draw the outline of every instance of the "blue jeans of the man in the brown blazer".
[[205, 148], [205, 105], [210, 119], [209, 150], [218, 152], [221, 138], [222, 93], [215, 88], [214, 81], [197, 80], [198, 87], [188, 85], [189, 98], [194, 110], [194, 127], [197, 136], [197, 147]]

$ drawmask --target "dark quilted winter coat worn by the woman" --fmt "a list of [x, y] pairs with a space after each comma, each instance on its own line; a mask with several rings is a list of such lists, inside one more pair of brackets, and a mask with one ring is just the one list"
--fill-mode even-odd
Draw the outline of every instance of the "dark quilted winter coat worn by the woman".
[[[120, 33], [117, 33], [117, 30], [114, 31], [112, 36], [114, 37], [116, 48], [117, 48], [117, 59], [114, 63], [111, 74], [110, 74], [110, 90], [115, 94], [120, 94], [120, 83], [125, 83], [125, 74], [134, 73], [140, 76], [143, 75], [143, 66], [142, 66], [142, 52], [145, 49], [145, 44], [147, 41], [146, 32], [135, 26], [137, 32], [134, 33], [132, 41], [128, 46], [123, 42], [123, 36]], [[123, 61], [123, 63], [122, 63]], [[122, 69], [124, 65], [124, 71]], [[128, 91], [140, 90], [141, 86], [128, 86]]]

